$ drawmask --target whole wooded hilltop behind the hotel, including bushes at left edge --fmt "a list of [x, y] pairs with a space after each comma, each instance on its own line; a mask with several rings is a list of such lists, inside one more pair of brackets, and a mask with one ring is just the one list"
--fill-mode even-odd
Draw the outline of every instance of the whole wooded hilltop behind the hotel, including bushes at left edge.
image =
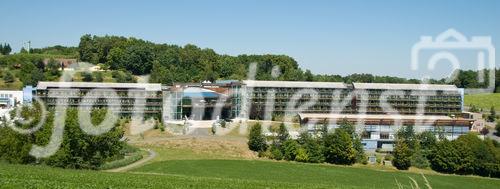
[[[9, 46], [8, 44], [4, 44]], [[257, 63], [256, 80], [326, 81], [366, 83], [420, 83], [418, 79], [393, 76], [376, 76], [352, 73], [341, 76], [314, 74], [303, 69], [287, 55], [238, 55], [218, 54], [212, 49], [202, 49], [192, 44], [184, 46], [158, 44], [133, 37], [83, 35], [78, 47], [52, 46], [21, 49], [20, 53], [5, 51], [0, 55], [0, 84], [20, 81], [35, 85], [41, 80], [56, 80], [57, 65], [43, 64], [44, 59], [74, 58], [78, 61], [100, 65], [108, 71], [120, 71], [122, 75], [150, 75], [149, 82], [172, 84], [175, 82], [201, 82], [205, 80], [243, 80], [247, 78], [251, 63]], [[49, 61], [53, 62], [53, 61]], [[279, 76], [273, 77], [273, 67], [279, 66]], [[18, 70], [18, 71], [16, 71]], [[22, 70], [22, 71], [21, 71]], [[10, 72], [10, 73], [9, 73]], [[478, 82], [478, 72], [457, 70], [458, 77], [450, 83], [445, 79], [431, 79], [434, 84], [454, 84], [460, 88], [484, 88], [488, 82]], [[486, 70], [487, 74], [488, 71]], [[116, 74], [114, 74], [116, 75]], [[496, 92], [500, 92], [500, 70], [495, 70]], [[83, 77], [83, 76], [82, 76]], [[128, 76], [130, 77], [130, 76]], [[16, 79], [17, 78], [17, 79]], [[92, 79], [90, 79], [92, 81]], [[134, 81], [127, 79], [124, 81]], [[104, 82], [116, 81], [104, 80]], [[97, 82], [102, 82], [98, 79]], [[17, 85], [16, 85], [17, 86]]]

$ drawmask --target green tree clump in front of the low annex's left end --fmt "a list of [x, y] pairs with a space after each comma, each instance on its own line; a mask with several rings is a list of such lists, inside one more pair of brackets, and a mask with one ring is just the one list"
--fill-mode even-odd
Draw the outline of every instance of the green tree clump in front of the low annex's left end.
[[298, 139], [291, 139], [283, 123], [274, 133], [274, 136], [266, 137], [262, 134], [260, 123], [252, 126], [249, 149], [258, 152], [261, 157], [276, 160], [340, 165], [367, 163], [361, 138], [347, 121], [342, 122], [334, 132], [329, 132], [324, 125], [314, 134], [302, 132]]

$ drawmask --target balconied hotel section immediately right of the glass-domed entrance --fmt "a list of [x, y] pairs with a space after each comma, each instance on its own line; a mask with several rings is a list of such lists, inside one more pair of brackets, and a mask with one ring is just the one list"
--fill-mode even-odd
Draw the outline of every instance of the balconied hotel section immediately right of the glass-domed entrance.
[[[349, 85], [340, 82], [246, 80], [241, 83], [240, 116], [262, 120], [300, 112], [330, 113], [332, 109], [355, 113], [350, 92]], [[348, 103], [342, 104], [346, 99]]]

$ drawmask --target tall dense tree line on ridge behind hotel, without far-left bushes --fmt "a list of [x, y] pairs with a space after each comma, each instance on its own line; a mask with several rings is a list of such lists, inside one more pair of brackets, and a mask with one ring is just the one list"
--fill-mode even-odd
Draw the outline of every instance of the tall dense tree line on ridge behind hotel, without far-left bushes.
[[[155, 44], [136, 38], [119, 36], [84, 35], [80, 39], [79, 55], [82, 61], [104, 63], [111, 69], [125, 69], [134, 74], [151, 74], [153, 82], [200, 82], [204, 80], [235, 79], [247, 77], [249, 63], [258, 63], [257, 80], [366, 82], [366, 83], [420, 83], [418, 79], [406, 79], [372, 74], [347, 76], [313, 74], [303, 70], [292, 57], [286, 55], [238, 55], [217, 54], [212, 49], [195, 45], [183, 47]], [[279, 66], [281, 75], [272, 77], [272, 69]], [[461, 88], [485, 88], [488, 82], [478, 81], [478, 71], [457, 70], [457, 78], [451, 83], [445, 79], [431, 79], [434, 84], [454, 84]], [[486, 78], [488, 70], [484, 70]], [[495, 86], [500, 90], [500, 70], [495, 70]]]

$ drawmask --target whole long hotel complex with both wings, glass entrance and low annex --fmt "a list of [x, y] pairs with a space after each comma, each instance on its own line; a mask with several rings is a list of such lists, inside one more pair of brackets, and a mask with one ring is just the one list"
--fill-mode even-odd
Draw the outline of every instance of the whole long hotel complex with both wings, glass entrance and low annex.
[[[87, 109], [107, 106], [122, 115], [143, 112], [169, 120], [298, 117], [303, 128], [349, 121], [363, 130], [367, 149], [394, 141], [398, 128], [414, 125], [454, 139], [474, 120], [463, 112], [463, 89], [454, 85], [298, 81], [216, 81], [172, 86], [138, 83], [40, 82], [36, 97]], [[359, 128], [359, 127], [358, 127]]]

